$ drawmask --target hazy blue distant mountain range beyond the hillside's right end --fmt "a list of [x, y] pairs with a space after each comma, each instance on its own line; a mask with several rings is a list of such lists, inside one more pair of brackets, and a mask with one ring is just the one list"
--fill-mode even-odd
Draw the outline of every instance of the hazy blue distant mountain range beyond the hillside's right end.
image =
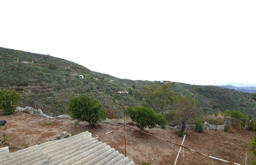
[[224, 84], [217, 87], [222, 87], [222, 88], [227, 88], [227, 89], [247, 92], [247, 93], [256, 93], [256, 85], [252, 85], [252, 84], [229, 83], [229, 84]]

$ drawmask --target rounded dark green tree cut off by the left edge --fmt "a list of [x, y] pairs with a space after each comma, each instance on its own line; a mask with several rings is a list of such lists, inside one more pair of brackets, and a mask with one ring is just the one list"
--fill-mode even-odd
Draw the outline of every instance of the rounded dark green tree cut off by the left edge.
[[15, 111], [19, 100], [20, 96], [15, 91], [0, 91], [0, 108], [8, 115]]

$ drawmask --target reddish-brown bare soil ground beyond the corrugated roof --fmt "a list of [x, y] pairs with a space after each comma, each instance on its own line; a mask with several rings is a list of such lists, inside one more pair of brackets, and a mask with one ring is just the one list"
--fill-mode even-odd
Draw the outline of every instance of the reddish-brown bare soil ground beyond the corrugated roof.
[[[97, 137], [122, 126], [117, 123], [101, 123], [96, 128], [90, 128], [87, 122], [81, 122], [77, 127], [74, 125], [75, 121], [69, 119], [51, 120], [53, 124], [47, 125], [46, 122], [50, 122], [49, 119], [30, 115], [26, 112], [14, 112], [12, 115], [5, 115], [3, 111], [0, 111], [0, 120], [7, 121], [3, 128], [7, 128], [6, 135], [9, 136], [8, 144], [0, 145], [0, 148], [9, 146], [10, 152], [45, 143], [63, 131], [75, 135], [79, 132], [89, 131], [93, 137]], [[2, 131], [3, 129], [1, 129]], [[181, 144], [183, 140], [183, 138], [177, 136], [178, 130], [175, 129], [161, 130], [160, 128], [154, 128], [146, 129], [145, 132], [178, 144]], [[233, 133], [213, 130], [204, 130], [203, 133], [194, 130], [186, 130], [185, 132], [184, 145], [200, 153], [242, 165], [249, 165], [249, 160], [253, 159], [253, 156], [248, 154], [247, 151], [250, 149], [248, 147], [249, 140], [256, 136], [256, 132]], [[102, 136], [98, 140], [107, 143], [118, 150], [119, 153], [125, 154], [124, 128]], [[144, 161], [150, 162], [152, 165], [172, 165], [175, 162], [179, 146], [126, 127], [126, 149], [127, 156], [137, 165], [142, 165]], [[186, 165], [228, 164], [188, 149], [185, 149], [184, 153], [184, 164]], [[177, 164], [182, 164], [182, 160], [183, 157], [180, 154]]]

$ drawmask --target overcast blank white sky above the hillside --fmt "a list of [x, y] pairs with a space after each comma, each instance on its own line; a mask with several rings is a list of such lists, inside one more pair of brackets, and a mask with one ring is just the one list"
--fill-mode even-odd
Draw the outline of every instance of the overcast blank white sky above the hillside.
[[256, 0], [1, 0], [0, 47], [117, 78], [256, 84]]

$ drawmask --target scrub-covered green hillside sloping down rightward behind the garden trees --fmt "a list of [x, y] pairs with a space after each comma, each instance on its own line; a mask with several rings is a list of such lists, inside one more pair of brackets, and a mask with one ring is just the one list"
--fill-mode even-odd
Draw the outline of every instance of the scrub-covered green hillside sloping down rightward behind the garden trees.
[[[133, 83], [135, 89], [132, 89]], [[22, 97], [19, 106], [30, 105], [53, 116], [65, 113], [68, 100], [84, 93], [98, 99], [109, 117], [118, 118], [122, 116], [124, 108], [141, 105], [138, 97], [141, 87], [151, 87], [154, 83], [162, 85], [160, 81], [115, 78], [50, 55], [0, 47], [0, 87], [16, 90]], [[129, 88], [134, 95], [118, 93]], [[205, 113], [239, 109], [246, 114], [256, 115], [256, 101], [251, 93], [178, 82], [171, 83], [171, 89], [196, 95]]]

